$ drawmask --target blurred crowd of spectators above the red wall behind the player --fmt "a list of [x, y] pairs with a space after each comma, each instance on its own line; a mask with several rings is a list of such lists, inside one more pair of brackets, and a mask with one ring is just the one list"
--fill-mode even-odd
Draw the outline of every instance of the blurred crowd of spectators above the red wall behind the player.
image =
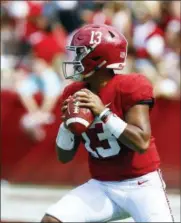
[[[146, 75], [156, 97], [180, 99], [180, 4], [1, 1], [1, 90], [18, 94], [27, 110], [22, 125], [29, 129], [32, 120], [39, 125], [53, 121], [51, 111], [70, 82], [61, 71], [61, 61], [70, 57], [65, 46], [75, 30], [88, 23], [115, 26], [126, 36], [129, 49], [123, 74]], [[38, 92], [43, 95], [41, 106], [34, 99]]]

